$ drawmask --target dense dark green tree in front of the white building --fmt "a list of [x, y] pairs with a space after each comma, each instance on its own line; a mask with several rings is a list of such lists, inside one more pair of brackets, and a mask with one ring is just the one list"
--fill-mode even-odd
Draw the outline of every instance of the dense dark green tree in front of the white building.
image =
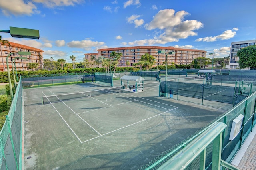
[[237, 57], [239, 57], [238, 63], [241, 69], [256, 69], [256, 45], [250, 45], [238, 50]]

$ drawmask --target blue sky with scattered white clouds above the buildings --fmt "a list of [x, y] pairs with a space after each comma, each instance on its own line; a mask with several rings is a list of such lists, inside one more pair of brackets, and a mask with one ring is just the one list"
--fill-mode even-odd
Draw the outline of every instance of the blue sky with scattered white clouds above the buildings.
[[2, 39], [44, 51], [44, 59], [140, 45], [199, 49], [226, 57], [231, 42], [256, 39], [256, 0], [1, 0], [1, 30], [39, 30], [40, 39]]

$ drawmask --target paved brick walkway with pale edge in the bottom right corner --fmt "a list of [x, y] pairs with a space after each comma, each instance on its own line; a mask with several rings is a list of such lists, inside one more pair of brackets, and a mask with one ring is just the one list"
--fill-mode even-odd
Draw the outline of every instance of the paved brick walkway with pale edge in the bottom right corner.
[[252, 129], [231, 164], [240, 170], [256, 170], [256, 127]]

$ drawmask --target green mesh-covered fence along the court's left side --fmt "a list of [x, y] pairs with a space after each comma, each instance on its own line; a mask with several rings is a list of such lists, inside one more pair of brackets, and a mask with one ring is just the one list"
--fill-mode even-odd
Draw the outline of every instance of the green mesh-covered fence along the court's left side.
[[6, 121], [0, 131], [1, 170], [22, 169], [22, 91], [22, 84], [19, 81]]

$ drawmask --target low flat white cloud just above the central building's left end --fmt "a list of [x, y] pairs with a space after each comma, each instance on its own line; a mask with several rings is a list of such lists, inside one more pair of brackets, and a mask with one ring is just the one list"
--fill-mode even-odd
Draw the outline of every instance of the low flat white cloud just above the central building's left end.
[[82, 41], [71, 41], [67, 43], [68, 47], [71, 48], [83, 48], [84, 50], [91, 50], [92, 48], [101, 47], [104, 42], [82, 40]]

